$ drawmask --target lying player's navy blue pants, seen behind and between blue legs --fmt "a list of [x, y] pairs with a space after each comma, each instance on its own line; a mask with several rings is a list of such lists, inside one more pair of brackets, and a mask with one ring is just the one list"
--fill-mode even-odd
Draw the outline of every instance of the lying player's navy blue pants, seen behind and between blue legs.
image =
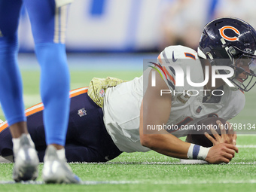
[[[39, 160], [43, 162], [46, 142], [42, 111], [29, 115], [27, 123]], [[71, 99], [65, 148], [68, 162], [105, 162], [122, 153], [105, 129], [102, 108], [99, 108], [87, 93]], [[11, 133], [6, 128], [0, 133], [0, 155], [11, 154]]]

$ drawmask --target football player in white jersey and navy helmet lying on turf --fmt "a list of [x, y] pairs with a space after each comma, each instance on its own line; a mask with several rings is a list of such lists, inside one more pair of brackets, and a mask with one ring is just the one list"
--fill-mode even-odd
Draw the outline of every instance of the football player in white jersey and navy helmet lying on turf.
[[[255, 40], [256, 32], [248, 23], [235, 18], [220, 18], [205, 26], [198, 53], [188, 47], [166, 47], [160, 53], [158, 63], [151, 66], [154, 69], [148, 67], [143, 77], [128, 82], [115, 78], [94, 78], [89, 88], [73, 90], [66, 138], [67, 160], [105, 162], [122, 152], [154, 150], [169, 157], [229, 163], [238, 152], [236, 134], [212, 139], [212, 148], [183, 142], [178, 137], [190, 134], [190, 130], [182, 129], [184, 125], [194, 125], [212, 116], [230, 120], [239, 114], [245, 105], [243, 91], [252, 87], [245, 86], [244, 81], [255, 77]], [[224, 62], [218, 59], [224, 59]], [[185, 73], [186, 62], [191, 66], [192, 82], [203, 82], [206, 69], [213, 66], [229, 66], [234, 75], [231, 74], [232, 77], [226, 81], [217, 79], [214, 87], [210, 72], [206, 85], [194, 87], [185, 83], [186, 76], [181, 79], [178, 71], [175, 73], [172, 66], [166, 66], [179, 66]], [[218, 73], [225, 75], [228, 72], [218, 70]], [[178, 87], [181, 81], [184, 81], [184, 86]], [[228, 84], [231, 82], [235, 87]], [[169, 94], [161, 96], [161, 90], [169, 90]], [[198, 94], [188, 94], [184, 90], [196, 90]], [[218, 95], [218, 92], [223, 94]], [[42, 110], [41, 104], [26, 110], [29, 133], [40, 161], [46, 148]], [[178, 130], [154, 128], [160, 125], [175, 125]], [[12, 154], [12, 143], [7, 123], [2, 123], [0, 130], [0, 154], [9, 156]]]

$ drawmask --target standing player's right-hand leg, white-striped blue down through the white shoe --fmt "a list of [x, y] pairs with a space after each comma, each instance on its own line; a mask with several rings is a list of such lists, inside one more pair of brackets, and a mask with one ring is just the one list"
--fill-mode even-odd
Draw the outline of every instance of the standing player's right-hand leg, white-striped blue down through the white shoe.
[[[49, 147], [44, 157], [43, 179], [46, 182], [56, 183], [79, 182], [72, 172], [68, 172], [69, 169], [66, 169], [68, 165], [64, 163], [70, 102], [69, 69], [65, 47], [68, 5], [56, 8], [54, 0], [24, 0], [24, 3], [32, 26], [35, 53], [41, 66], [40, 90], [44, 103], [46, 142], [48, 146], [54, 146], [54, 148]], [[52, 169], [53, 162], [58, 160], [56, 157], [59, 157], [58, 172]], [[50, 169], [50, 172], [44, 171], [47, 169]], [[74, 175], [74, 179], [69, 180], [69, 175]]]

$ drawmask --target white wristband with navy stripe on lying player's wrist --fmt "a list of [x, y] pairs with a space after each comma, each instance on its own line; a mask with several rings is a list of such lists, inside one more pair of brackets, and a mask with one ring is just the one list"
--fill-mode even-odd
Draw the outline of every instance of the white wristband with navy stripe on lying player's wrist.
[[190, 144], [187, 151], [187, 159], [190, 160], [205, 160], [210, 148], [204, 148], [200, 145]]

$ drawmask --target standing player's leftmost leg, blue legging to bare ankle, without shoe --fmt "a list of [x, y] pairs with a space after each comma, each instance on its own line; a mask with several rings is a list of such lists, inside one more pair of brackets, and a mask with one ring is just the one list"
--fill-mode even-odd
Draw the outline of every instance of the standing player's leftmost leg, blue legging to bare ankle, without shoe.
[[22, 78], [17, 63], [21, 5], [21, 1], [0, 1], [0, 101], [8, 123], [14, 125], [14, 138], [26, 133]]

